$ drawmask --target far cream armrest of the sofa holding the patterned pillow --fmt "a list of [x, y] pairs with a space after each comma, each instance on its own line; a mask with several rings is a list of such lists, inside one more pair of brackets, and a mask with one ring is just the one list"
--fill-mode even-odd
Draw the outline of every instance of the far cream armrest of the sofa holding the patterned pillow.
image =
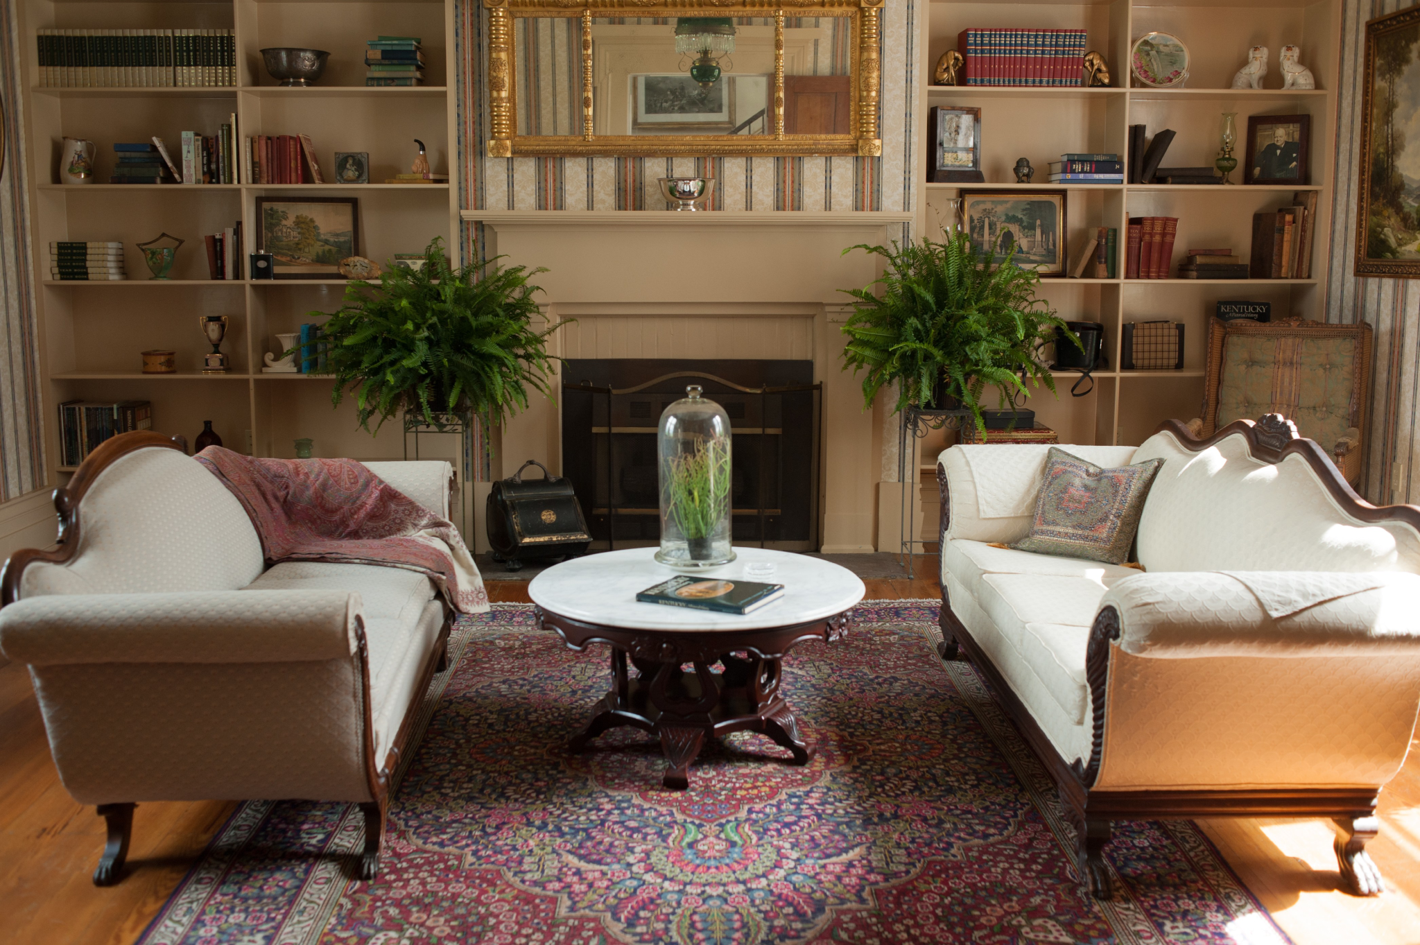
[[[1071, 454], [1098, 465], [1133, 463], [1135, 447], [1068, 446]], [[947, 471], [949, 538], [1014, 542], [1031, 531], [1045, 455], [1037, 443], [954, 446], [937, 457]]]

